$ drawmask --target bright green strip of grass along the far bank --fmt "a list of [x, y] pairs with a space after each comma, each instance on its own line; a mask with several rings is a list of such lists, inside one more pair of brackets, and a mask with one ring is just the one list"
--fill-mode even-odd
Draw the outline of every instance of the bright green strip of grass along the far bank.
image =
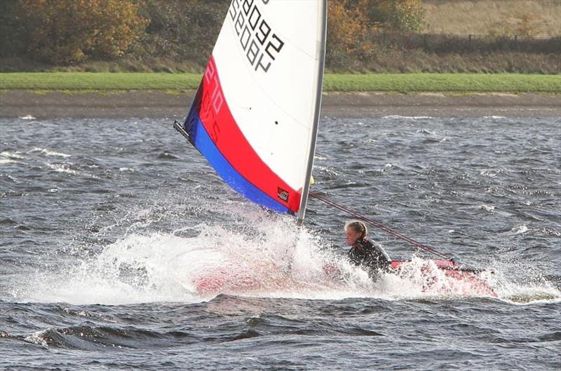
[[[0, 73], [0, 90], [190, 90], [197, 73]], [[325, 75], [324, 91], [561, 93], [561, 75], [384, 73]]]

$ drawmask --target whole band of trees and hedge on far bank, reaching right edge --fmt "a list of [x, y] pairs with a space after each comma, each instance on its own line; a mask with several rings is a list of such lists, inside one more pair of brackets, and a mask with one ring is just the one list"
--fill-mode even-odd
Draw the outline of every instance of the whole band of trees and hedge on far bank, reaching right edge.
[[[86, 70], [113, 63], [125, 71], [185, 71], [187, 64], [200, 71], [230, 3], [0, 0], [0, 69], [18, 71], [32, 61]], [[328, 4], [326, 67], [332, 71], [561, 73], [561, 37], [529, 38], [531, 22], [522, 20], [515, 39], [499, 31], [424, 34], [421, 0]]]

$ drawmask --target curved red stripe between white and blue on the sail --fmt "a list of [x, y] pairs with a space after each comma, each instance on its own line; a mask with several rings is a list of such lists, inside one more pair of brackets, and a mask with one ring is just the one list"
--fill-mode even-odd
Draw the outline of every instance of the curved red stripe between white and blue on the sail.
[[298, 211], [300, 194], [259, 158], [234, 120], [212, 56], [201, 83], [201, 106], [198, 114], [210, 139], [241, 176], [288, 209]]

